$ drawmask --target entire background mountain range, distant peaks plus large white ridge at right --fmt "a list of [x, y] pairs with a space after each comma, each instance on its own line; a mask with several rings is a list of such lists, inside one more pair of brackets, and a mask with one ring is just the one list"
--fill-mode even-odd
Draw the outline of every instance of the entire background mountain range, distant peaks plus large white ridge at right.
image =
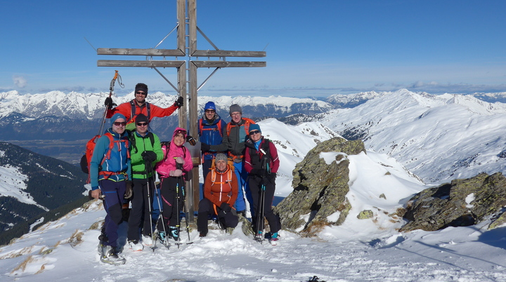
[[[0, 140], [34, 152], [77, 163], [86, 140], [97, 134], [108, 93], [20, 95], [0, 93]], [[113, 96], [117, 104], [133, 95]], [[486, 102], [485, 99], [489, 102]], [[474, 95], [366, 92], [315, 98], [199, 97], [216, 103], [217, 112], [229, 120], [228, 107], [238, 104], [243, 116], [257, 121], [274, 117], [287, 124], [320, 122], [349, 140], [361, 139], [368, 149], [388, 154], [419, 175], [424, 182], [439, 183], [505, 167], [506, 93]], [[156, 92], [146, 98], [169, 107], [175, 95]], [[496, 102], [494, 102], [496, 101]], [[107, 124], [108, 125], [108, 124]], [[168, 140], [176, 115], [153, 119], [152, 129]], [[191, 133], [190, 133], [191, 134]]]

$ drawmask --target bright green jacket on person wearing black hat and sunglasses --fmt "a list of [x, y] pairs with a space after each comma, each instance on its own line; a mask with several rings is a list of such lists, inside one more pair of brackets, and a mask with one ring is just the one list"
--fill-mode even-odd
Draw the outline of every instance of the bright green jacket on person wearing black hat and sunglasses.
[[[136, 131], [131, 133], [131, 152], [130, 152], [130, 158], [131, 158], [131, 170], [132, 170], [132, 178], [135, 179], [145, 179], [148, 178], [148, 176], [153, 175], [153, 173], [150, 173], [150, 175], [146, 175], [145, 172], [145, 163], [142, 157], [142, 153], [145, 151], [153, 151], [157, 155], [156, 161], [151, 163], [151, 166], [153, 168], [155, 167], [156, 163], [159, 161], [162, 161], [163, 159], [163, 152], [162, 152], [162, 145], [160, 145], [160, 138], [154, 133], [148, 132], [145, 136], [139, 135]], [[155, 171], [154, 169], [151, 170], [152, 172]]]

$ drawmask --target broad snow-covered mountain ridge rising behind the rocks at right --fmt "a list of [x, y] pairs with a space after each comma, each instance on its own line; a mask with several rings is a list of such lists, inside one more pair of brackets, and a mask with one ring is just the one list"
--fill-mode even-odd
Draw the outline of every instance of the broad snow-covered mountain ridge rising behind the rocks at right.
[[506, 105], [499, 102], [398, 90], [314, 119], [344, 137], [361, 137], [367, 149], [394, 157], [426, 183], [506, 167]]

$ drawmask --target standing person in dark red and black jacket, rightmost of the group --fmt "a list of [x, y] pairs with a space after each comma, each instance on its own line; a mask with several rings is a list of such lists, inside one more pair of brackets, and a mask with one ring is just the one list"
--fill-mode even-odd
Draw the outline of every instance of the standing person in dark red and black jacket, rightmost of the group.
[[[278, 241], [278, 231], [281, 229], [280, 218], [272, 209], [275, 177], [280, 166], [278, 150], [273, 142], [261, 135], [258, 124], [249, 126], [249, 140], [245, 142], [245, 170], [249, 173], [249, 189], [253, 196], [254, 215], [252, 224], [255, 237], [263, 236], [264, 218], [259, 217], [259, 208], [264, 208], [264, 216], [271, 227], [271, 243]], [[261, 192], [264, 191], [264, 202], [260, 203]], [[267, 237], [267, 236], [266, 236]]]

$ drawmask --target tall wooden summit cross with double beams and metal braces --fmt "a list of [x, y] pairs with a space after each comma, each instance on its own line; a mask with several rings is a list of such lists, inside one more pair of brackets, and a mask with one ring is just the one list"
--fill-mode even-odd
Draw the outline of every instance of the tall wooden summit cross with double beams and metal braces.
[[[179, 126], [187, 128], [186, 113], [188, 109], [188, 116], [190, 118], [189, 132], [192, 135], [197, 133], [197, 92], [205, 82], [212, 76], [218, 69], [222, 67], [266, 67], [266, 62], [259, 61], [227, 61], [227, 57], [247, 57], [247, 58], [263, 58], [266, 56], [264, 51], [226, 51], [217, 48], [209, 38], [197, 27], [197, 0], [176, 0], [176, 13], [177, 13], [177, 26], [172, 29], [176, 29], [177, 34], [177, 47], [176, 49], [157, 49], [156, 47], [169, 36], [165, 36], [155, 48], [98, 48], [97, 55], [142, 55], [146, 56], [146, 60], [98, 60], [98, 67], [150, 67], [155, 69], [162, 78], [167, 81], [174, 90], [183, 97], [185, 103], [183, 107], [179, 109]], [[188, 16], [187, 16], [188, 11]], [[183, 23], [183, 24], [181, 24]], [[188, 30], [188, 36], [186, 35]], [[197, 32], [200, 32], [202, 36], [214, 47], [215, 50], [198, 50], [197, 49]], [[177, 60], [179, 57], [186, 57], [188, 55], [189, 60]], [[153, 60], [153, 57], [163, 57], [164, 60]], [[175, 57], [176, 60], [165, 60], [165, 57]], [[198, 60], [199, 57], [206, 58], [220, 58], [220, 60]], [[196, 58], [197, 60], [192, 60]], [[159, 67], [175, 67], [177, 69], [177, 87], [172, 84], [162, 72]], [[213, 67], [214, 72], [210, 74], [202, 83], [201, 86], [197, 86], [197, 69], [199, 67]], [[188, 75], [187, 75], [188, 73]], [[187, 80], [188, 77], [188, 80]], [[187, 99], [187, 85], [190, 88], [189, 96]], [[194, 99], [195, 98], [195, 99]], [[198, 174], [198, 166], [193, 167], [193, 175]], [[188, 220], [194, 221], [195, 203], [198, 205], [199, 202], [199, 183], [198, 176], [194, 176], [193, 180], [188, 182], [186, 201], [188, 210]], [[196, 180], [195, 180], [196, 179]]]

